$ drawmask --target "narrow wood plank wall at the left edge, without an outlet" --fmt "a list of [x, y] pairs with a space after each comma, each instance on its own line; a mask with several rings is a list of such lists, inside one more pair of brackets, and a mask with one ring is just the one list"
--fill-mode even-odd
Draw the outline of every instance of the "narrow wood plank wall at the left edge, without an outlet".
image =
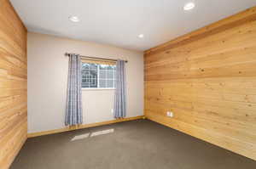
[[9, 0], [0, 0], [0, 168], [9, 168], [26, 141], [26, 27]]

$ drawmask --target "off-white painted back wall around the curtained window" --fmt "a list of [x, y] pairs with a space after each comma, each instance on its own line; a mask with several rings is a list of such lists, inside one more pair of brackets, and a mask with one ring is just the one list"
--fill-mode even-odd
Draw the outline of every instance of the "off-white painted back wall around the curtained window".
[[[109, 59], [127, 59], [127, 117], [143, 115], [143, 53], [95, 42], [82, 42], [29, 32], [28, 132], [65, 127], [66, 52]], [[113, 120], [114, 90], [83, 90], [84, 124]]]

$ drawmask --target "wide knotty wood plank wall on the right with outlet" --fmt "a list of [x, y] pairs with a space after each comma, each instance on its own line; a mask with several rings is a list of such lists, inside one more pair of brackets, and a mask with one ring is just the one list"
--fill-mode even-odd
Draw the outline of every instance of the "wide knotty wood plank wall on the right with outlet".
[[151, 48], [144, 60], [148, 119], [256, 160], [255, 7]]

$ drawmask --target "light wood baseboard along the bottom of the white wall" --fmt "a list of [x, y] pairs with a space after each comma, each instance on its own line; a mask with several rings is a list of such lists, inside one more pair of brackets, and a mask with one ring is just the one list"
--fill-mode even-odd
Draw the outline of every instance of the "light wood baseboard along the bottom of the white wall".
[[73, 127], [65, 127], [65, 128], [55, 129], [55, 130], [44, 131], [44, 132], [32, 132], [27, 134], [27, 138], [34, 138], [38, 136], [44, 136], [44, 135], [49, 135], [49, 134], [54, 134], [59, 132], [68, 132], [68, 131], [73, 131], [73, 130], [78, 130], [83, 128], [99, 127], [99, 126], [113, 124], [117, 122], [134, 121], [134, 120], [144, 119], [144, 118], [145, 118], [144, 115], [139, 115], [135, 117], [127, 117], [124, 119], [116, 119], [112, 121], [103, 121], [103, 122], [96, 122], [96, 123], [84, 124], [84, 125], [73, 126]]

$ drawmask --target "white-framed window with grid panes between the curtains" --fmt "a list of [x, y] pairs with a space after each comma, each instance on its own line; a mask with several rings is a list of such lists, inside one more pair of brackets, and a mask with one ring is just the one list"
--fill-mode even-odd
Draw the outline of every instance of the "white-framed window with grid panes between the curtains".
[[114, 88], [115, 65], [82, 62], [82, 88]]

